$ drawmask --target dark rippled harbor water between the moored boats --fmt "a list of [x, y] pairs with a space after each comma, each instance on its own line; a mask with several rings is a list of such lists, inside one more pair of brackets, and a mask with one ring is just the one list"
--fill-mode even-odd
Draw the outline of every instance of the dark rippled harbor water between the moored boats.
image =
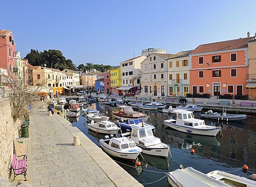
[[[100, 103], [93, 103], [88, 106], [97, 109], [101, 113], [110, 116], [110, 120], [116, 118], [111, 115], [116, 107], [110, 107]], [[166, 160], [142, 154], [138, 157], [140, 166], [135, 163], [125, 162], [115, 159], [129, 174], [145, 186], [170, 186], [167, 181], [167, 172], [171, 172], [183, 167], [193, 167], [203, 173], [214, 170], [230, 172], [248, 178], [250, 174], [256, 173], [256, 117], [252, 115], [244, 123], [219, 123], [218, 121], [205, 121], [206, 124], [221, 126], [223, 137], [206, 137], [193, 135], [166, 128], [163, 121], [175, 118], [173, 114], [165, 114], [161, 111], [144, 111], [134, 108], [134, 111], [142, 111], [150, 116], [155, 125], [155, 136], [161, 138], [162, 142], [170, 146], [171, 155]], [[194, 113], [195, 117], [200, 113]], [[78, 120], [70, 119], [73, 126], [76, 126], [87, 135], [97, 146], [100, 147], [98, 140], [104, 135], [97, 134], [87, 128], [86, 117], [79, 116]], [[191, 154], [191, 149], [195, 154]], [[243, 166], [247, 165], [249, 170], [243, 171]], [[113, 171], [114, 172], [114, 171]]]

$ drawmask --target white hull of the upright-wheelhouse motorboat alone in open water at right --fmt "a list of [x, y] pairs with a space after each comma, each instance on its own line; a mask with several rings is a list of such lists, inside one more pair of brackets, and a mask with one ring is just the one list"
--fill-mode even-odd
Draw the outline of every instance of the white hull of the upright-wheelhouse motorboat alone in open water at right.
[[[175, 120], [173, 120], [173, 121], [175, 121]], [[220, 128], [214, 128], [214, 127], [212, 127], [212, 129], [210, 129], [210, 128], [207, 128], [207, 129], [187, 128], [187, 127], [183, 127], [183, 126], [173, 123], [172, 120], [165, 120], [164, 124], [166, 126], [169, 126], [172, 129], [175, 129], [180, 132], [185, 132], [185, 133], [189, 133], [189, 134], [198, 134], [198, 135], [210, 135], [212, 137], [215, 137], [217, 135], [217, 133], [220, 131]]]

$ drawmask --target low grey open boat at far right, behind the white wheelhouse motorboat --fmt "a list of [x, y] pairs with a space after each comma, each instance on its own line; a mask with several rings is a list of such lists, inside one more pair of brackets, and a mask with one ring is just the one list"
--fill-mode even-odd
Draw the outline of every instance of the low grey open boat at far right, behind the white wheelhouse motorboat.
[[227, 121], [227, 122], [243, 122], [247, 115], [246, 114], [227, 114], [226, 107], [223, 108], [222, 113], [212, 112], [209, 110], [203, 114], [201, 114], [202, 118], [218, 120], [218, 121]]

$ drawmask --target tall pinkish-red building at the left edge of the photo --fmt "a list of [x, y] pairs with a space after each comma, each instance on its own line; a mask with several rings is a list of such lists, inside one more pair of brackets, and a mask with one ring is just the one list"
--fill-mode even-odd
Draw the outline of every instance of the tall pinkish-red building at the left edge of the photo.
[[0, 30], [0, 86], [7, 86], [5, 77], [11, 76], [15, 61], [15, 42], [10, 30]]

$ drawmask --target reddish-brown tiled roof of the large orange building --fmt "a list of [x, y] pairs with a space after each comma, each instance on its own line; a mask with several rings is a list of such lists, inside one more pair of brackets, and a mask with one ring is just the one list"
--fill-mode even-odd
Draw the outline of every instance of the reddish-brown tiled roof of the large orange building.
[[239, 48], [246, 48], [247, 42], [251, 41], [254, 37], [239, 38], [234, 40], [219, 41], [216, 43], [199, 45], [191, 52], [191, 54], [219, 52], [220, 50], [232, 50]]

